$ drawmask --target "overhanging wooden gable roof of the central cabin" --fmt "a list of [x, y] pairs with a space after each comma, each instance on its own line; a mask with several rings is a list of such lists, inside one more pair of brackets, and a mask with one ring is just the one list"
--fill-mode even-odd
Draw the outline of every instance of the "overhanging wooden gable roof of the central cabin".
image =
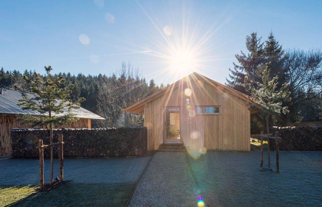
[[134, 112], [134, 113], [143, 113], [144, 112], [144, 104], [146, 104], [146, 103], [150, 102], [151, 100], [156, 99], [156, 98], [162, 96], [163, 94], [173, 90], [174, 88], [179, 86], [179, 84], [180, 84], [180, 82], [182, 80], [187, 80], [187, 79], [204, 81], [204, 82], [212, 85], [213, 87], [220, 88], [223, 91], [227, 91], [227, 92], [229, 92], [229, 93], [231, 93], [231, 94], [233, 94], [233, 95], [235, 95], [235, 96], [237, 96], [237, 97], [239, 97], [239, 98], [241, 98], [243, 100], [246, 100], [246, 101], [252, 103], [252, 101], [249, 99], [249, 97], [247, 95], [245, 95], [245, 94], [243, 94], [243, 93], [241, 93], [241, 92], [239, 92], [239, 91], [237, 91], [235, 89], [232, 89], [232, 88], [230, 88], [228, 86], [225, 86], [225, 85], [223, 85], [223, 84], [221, 84], [221, 83], [219, 83], [217, 81], [214, 81], [214, 80], [212, 80], [210, 78], [207, 78], [207, 77], [205, 77], [205, 76], [203, 76], [203, 75], [201, 75], [201, 74], [199, 74], [197, 72], [193, 72], [190, 75], [188, 75], [188, 76], [186, 76], [186, 77], [174, 82], [173, 84], [169, 85], [168, 87], [166, 87], [164, 89], [161, 89], [161, 90], [155, 92], [154, 94], [148, 96], [147, 98], [142, 99], [139, 102], [133, 104], [132, 106], [124, 109], [124, 111]]

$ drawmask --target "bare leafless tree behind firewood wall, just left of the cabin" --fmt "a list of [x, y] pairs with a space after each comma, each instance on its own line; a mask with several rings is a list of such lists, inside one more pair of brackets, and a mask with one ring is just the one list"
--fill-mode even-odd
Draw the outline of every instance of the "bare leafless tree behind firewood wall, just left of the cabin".
[[147, 84], [138, 69], [125, 62], [121, 68], [99, 85], [98, 114], [104, 117], [102, 127], [142, 126], [143, 116], [123, 112], [147, 96]]

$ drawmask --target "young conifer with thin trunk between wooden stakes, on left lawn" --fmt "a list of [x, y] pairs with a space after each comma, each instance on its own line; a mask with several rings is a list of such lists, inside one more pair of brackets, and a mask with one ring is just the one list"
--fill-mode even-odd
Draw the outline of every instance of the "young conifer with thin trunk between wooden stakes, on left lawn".
[[[52, 146], [52, 128], [69, 124], [78, 120], [77, 117], [68, 113], [62, 114], [63, 109], [70, 111], [72, 108], [80, 108], [80, 103], [84, 98], [72, 101], [70, 99], [72, 85], [69, 84], [63, 88], [59, 86], [64, 84], [65, 79], [62, 76], [53, 78], [50, 75], [51, 66], [45, 67], [47, 76], [43, 78], [40, 74], [34, 73], [34, 79], [29, 80], [27, 76], [24, 79], [29, 82], [28, 92], [33, 95], [21, 92], [22, 98], [18, 100], [17, 105], [23, 109], [38, 111], [45, 116], [31, 116], [29, 114], [19, 115], [19, 119], [24, 123], [31, 123], [32, 126], [47, 125], [50, 128], [50, 184], [53, 178], [53, 146]], [[19, 89], [19, 88], [16, 88]]]

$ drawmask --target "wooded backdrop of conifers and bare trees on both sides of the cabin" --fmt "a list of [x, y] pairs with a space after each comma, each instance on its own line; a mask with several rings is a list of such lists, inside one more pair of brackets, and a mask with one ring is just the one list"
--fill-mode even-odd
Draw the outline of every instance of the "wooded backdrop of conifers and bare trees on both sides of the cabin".
[[[322, 120], [322, 52], [320, 49], [304, 51], [300, 48], [283, 48], [270, 32], [266, 40], [256, 32], [246, 36], [247, 51], [235, 55], [237, 62], [229, 68], [226, 85], [248, 94], [244, 88], [244, 78], [248, 77], [256, 87], [261, 83], [262, 72], [266, 63], [270, 62], [270, 76], [278, 76], [278, 88], [283, 83], [289, 84], [290, 99], [283, 102], [289, 113], [279, 118], [270, 118], [270, 126], [286, 126], [287, 123]], [[29, 79], [35, 77], [35, 72], [23, 72], [14, 69], [1, 68], [0, 84], [2, 88], [14, 89], [18, 86], [26, 90], [29, 86], [23, 76]], [[73, 84], [72, 99], [84, 97], [81, 107], [94, 112], [105, 121], [94, 121], [93, 127], [142, 126], [143, 116], [125, 113], [123, 109], [137, 101], [166, 87], [157, 85], [154, 80], [146, 80], [139, 68], [130, 63], [121, 63], [111, 75], [77, 75], [71, 73], [53, 74], [53, 77], [63, 76], [64, 85]], [[44, 77], [45, 75], [43, 75]], [[249, 94], [248, 94], [249, 95]], [[265, 118], [260, 114], [251, 116], [251, 132], [259, 133], [265, 126]]]

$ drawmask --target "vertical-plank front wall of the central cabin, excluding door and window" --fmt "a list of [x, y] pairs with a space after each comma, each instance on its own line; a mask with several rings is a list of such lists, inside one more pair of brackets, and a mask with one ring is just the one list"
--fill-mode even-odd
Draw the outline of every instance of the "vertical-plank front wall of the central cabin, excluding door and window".
[[[190, 96], [185, 94], [186, 88], [191, 89]], [[163, 115], [169, 106], [180, 107], [181, 141], [186, 147], [250, 150], [248, 102], [201, 80], [182, 81], [179, 87], [145, 104], [148, 150], [156, 150], [163, 143]], [[220, 114], [194, 116], [195, 106], [220, 106]]]

